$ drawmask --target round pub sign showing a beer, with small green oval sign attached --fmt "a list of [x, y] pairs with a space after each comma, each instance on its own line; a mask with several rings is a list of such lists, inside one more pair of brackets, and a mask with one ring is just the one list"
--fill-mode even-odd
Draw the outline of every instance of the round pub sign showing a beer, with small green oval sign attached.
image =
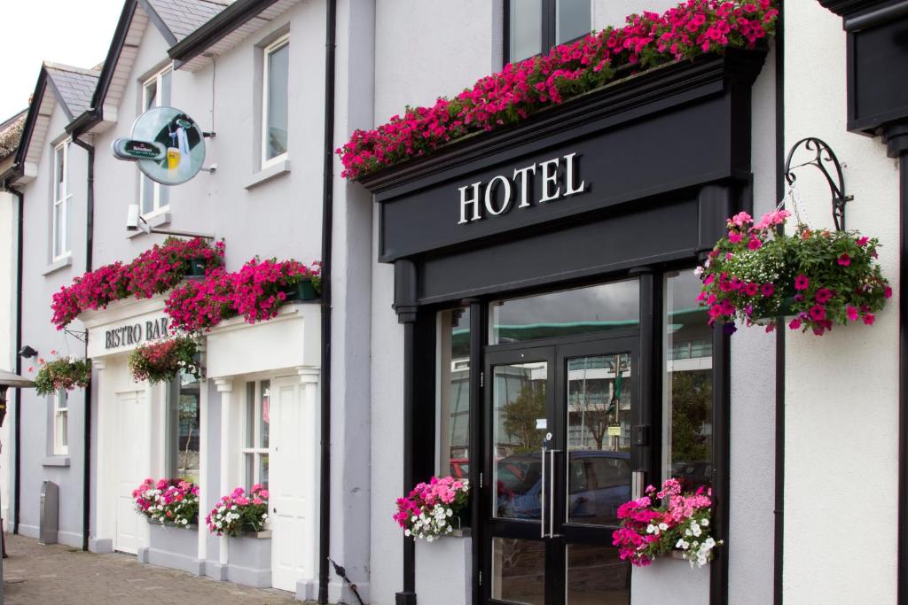
[[185, 113], [155, 107], [136, 118], [131, 138], [114, 141], [114, 156], [134, 161], [152, 181], [179, 185], [202, 169], [205, 139], [199, 125]]

